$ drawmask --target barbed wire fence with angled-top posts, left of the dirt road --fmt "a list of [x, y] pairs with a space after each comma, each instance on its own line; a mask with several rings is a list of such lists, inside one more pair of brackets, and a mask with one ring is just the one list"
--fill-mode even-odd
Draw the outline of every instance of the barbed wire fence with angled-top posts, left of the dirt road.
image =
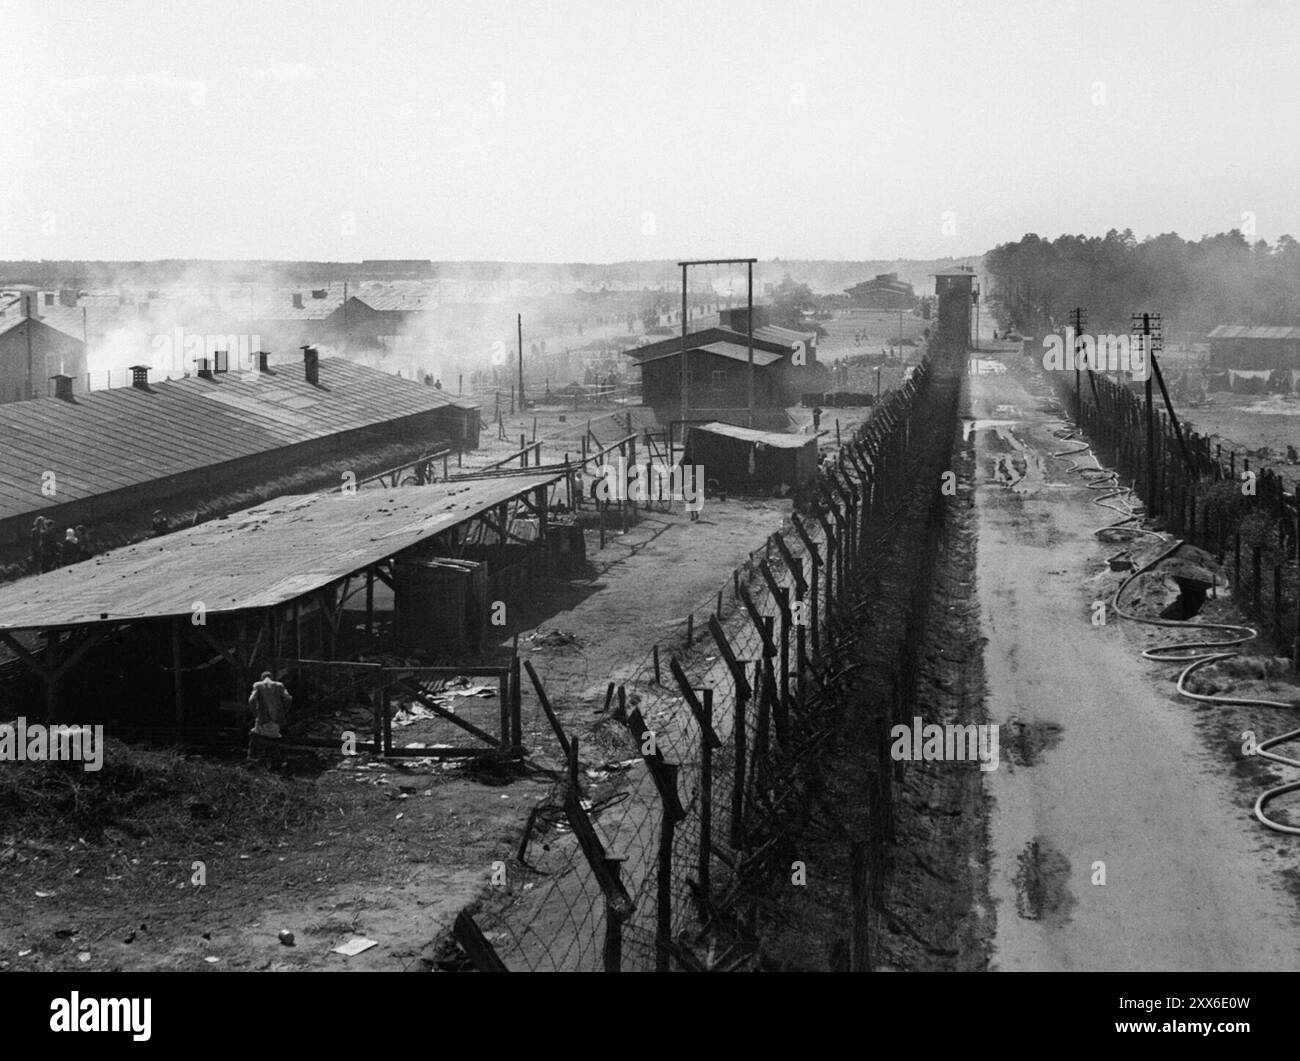
[[[508, 883], [458, 919], [456, 947], [441, 967], [758, 963], [766, 896], [797, 861], [793, 836], [815, 813], [810, 804], [824, 798], [820, 753], [853, 706], [852, 674], [863, 666], [854, 659], [862, 636], [854, 602], [879, 585], [880, 544], [923, 494], [918, 462], [932, 464], [952, 445], [957, 391], [933, 386], [936, 356], [944, 355], [927, 355], [822, 467], [809, 510], [786, 517], [675, 636], [611, 683], [608, 722], [625, 727], [641, 767], [619, 796], [588, 798], [578, 739], [564, 732], [543, 676], [525, 663], [566, 770], [534, 809]], [[933, 494], [924, 501], [931, 555], [942, 523]], [[924, 605], [914, 593], [906, 606], [913, 657]], [[906, 672], [907, 658], [896, 666]], [[854, 969], [870, 969], [901, 766], [889, 761], [884, 723], [909, 711], [897, 696], [871, 724], [878, 762], [867, 820], [852, 839]]]

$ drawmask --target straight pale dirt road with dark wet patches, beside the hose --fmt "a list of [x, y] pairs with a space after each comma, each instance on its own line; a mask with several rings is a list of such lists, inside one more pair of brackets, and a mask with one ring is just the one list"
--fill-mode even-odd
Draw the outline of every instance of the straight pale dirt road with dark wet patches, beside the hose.
[[[1173, 692], [1121, 620], [1095, 627], [1109, 577], [1092, 504], [1053, 437], [1041, 378], [970, 380], [988, 710], [992, 966], [1002, 970], [1297, 969], [1297, 848], [1231, 784], [1213, 711]], [[1108, 585], [1110, 583], [1106, 583]], [[1105, 884], [1098, 883], [1104, 863]]]

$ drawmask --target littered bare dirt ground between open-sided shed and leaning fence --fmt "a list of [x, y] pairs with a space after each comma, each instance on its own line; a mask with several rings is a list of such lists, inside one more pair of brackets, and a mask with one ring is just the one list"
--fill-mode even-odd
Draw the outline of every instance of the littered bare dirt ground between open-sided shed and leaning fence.
[[[533, 585], [502, 645], [519, 636], [566, 729], [590, 748], [584, 762], [601, 761], [593, 733], [607, 683], [689, 611], [706, 614], [788, 511], [789, 502], [708, 499], [690, 521], [677, 503], [625, 534], [611, 530], [603, 550], [588, 532], [588, 577]], [[546, 637], [556, 632], [560, 646]], [[465, 718], [485, 726], [497, 710], [491, 696], [464, 702]], [[560, 757], [526, 679], [523, 714], [533, 768], [506, 784], [433, 761], [308, 755], [286, 775], [292, 801], [320, 809], [306, 823], [250, 832], [238, 806], [222, 806], [216, 822], [196, 819], [178, 835], [130, 820], [40, 840], [0, 827], [0, 969], [428, 967], [428, 944], [490, 885], [493, 863], [512, 857], [551, 791], [537, 767]], [[399, 745], [442, 739], [425, 723], [394, 736]], [[202, 885], [191, 883], [195, 862], [204, 863]], [[278, 941], [281, 930], [294, 934], [292, 947]], [[330, 953], [352, 936], [378, 945]]]

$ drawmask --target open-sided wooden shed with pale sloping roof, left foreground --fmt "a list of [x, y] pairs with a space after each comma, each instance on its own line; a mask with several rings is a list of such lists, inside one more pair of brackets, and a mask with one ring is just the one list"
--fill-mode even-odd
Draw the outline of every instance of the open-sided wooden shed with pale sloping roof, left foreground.
[[[48, 719], [73, 710], [78, 720], [129, 720], [170, 707], [177, 733], [240, 703], [261, 668], [342, 666], [354, 645], [420, 655], [422, 644], [428, 657], [459, 659], [459, 646], [442, 653], [430, 641], [439, 628], [429, 615], [471, 622], [474, 602], [462, 590], [473, 586], [411, 577], [412, 566], [486, 566], [488, 599], [514, 607], [519, 573], [547, 563], [547, 495], [559, 478], [277, 498], [0, 585], [0, 645], [44, 687]], [[389, 637], [377, 590], [394, 601]]]

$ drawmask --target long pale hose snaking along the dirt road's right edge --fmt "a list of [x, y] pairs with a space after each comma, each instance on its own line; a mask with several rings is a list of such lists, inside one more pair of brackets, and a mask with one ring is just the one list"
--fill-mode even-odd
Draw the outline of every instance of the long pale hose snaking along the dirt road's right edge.
[[[1069, 420], [1066, 420], [1069, 424]], [[1141, 511], [1141, 502], [1136, 498], [1134, 491], [1119, 482], [1119, 473], [1110, 471], [1101, 465], [1097, 460], [1096, 454], [1092, 452], [1092, 446], [1088, 445], [1082, 438], [1078, 438], [1078, 429], [1067, 426], [1063, 430], [1053, 432], [1054, 437], [1062, 442], [1074, 442], [1078, 449], [1063, 450], [1061, 452], [1050, 454], [1054, 460], [1066, 460], [1070, 464], [1071, 472], [1079, 472], [1082, 476], [1095, 476], [1088, 478], [1089, 490], [1105, 490], [1100, 497], [1092, 499], [1093, 504], [1098, 504], [1102, 508], [1110, 508], [1118, 512], [1122, 519], [1115, 523], [1101, 527], [1093, 532], [1096, 537], [1101, 541], [1114, 541], [1117, 534], [1132, 534], [1134, 537], [1147, 534], [1156, 538], [1157, 541], [1169, 541], [1164, 534], [1154, 530], [1148, 530], [1144, 527], [1135, 525], [1139, 519], [1139, 512]], [[1082, 456], [1087, 454], [1092, 459], [1096, 467], [1087, 468], [1080, 467], [1072, 458]], [[1118, 502], [1114, 504], [1112, 502]], [[1109, 537], [1106, 537], [1109, 536]], [[1134, 623], [1145, 623], [1150, 627], [1174, 627], [1178, 629], [1205, 629], [1205, 631], [1223, 631], [1225, 637], [1217, 641], [1183, 641], [1174, 642], [1169, 645], [1157, 645], [1153, 649], [1147, 649], [1143, 653], [1143, 659], [1153, 659], [1157, 663], [1186, 663], [1187, 666], [1178, 675], [1178, 692], [1180, 696], [1188, 700], [1196, 700], [1202, 703], [1228, 703], [1240, 707], [1283, 707], [1295, 709], [1294, 703], [1283, 703], [1275, 700], [1260, 700], [1256, 697], [1226, 697], [1226, 696], [1208, 696], [1205, 693], [1193, 693], [1187, 688], [1187, 679], [1199, 671], [1201, 667], [1208, 667], [1210, 663], [1217, 663], [1222, 659], [1231, 659], [1239, 655], [1236, 651], [1219, 651], [1219, 649], [1227, 649], [1236, 645], [1243, 645], [1247, 641], [1253, 641], [1258, 637], [1258, 631], [1253, 627], [1245, 627], [1238, 623], [1192, 623], [1183, 619], [1149, 619], [1144, 615], [1135, 615], [1134, 612], [1124, 611], [1121, 605], [1121, 598], [1124, 590], [1141, 575], [1154, 568], [1167, 557], [1176, 553], [1183, 546], [1183, 540], [1178, 538], [1152, 560], [1148, 560], [1139, 568], [1135, 568], [1127, 579], [1124, 579], [1119, 588], [1115, 590], [1115, 596], [1112, 598], [1112, 609], [1122, 619], [1128, 619]], [[1117, 554], [1118, 555], [1118, 554]], [[1114, 558], [1112, 558], [1114, 559]], [[1291, 766], [1300, 770], [1300, 759], [1294, 759], [1287, 755], [1280, 755], [1270, 749], [1279, 744], [1286, 744], [1290, 740], [1300, 737], [1300, 728], [1291, 729], [1286, 733], [1279, 733], [1275, 737], [1269, 737], [1265, 741], [1260, 741], [1256, 745], [1256, 754], [1261, 758], [1269, 759], [1270, 762], [1280, 763], [1282, 766]], [[1286, 832], [1292, 836], [1300, 836], [1300, 827], [1286, 826], [1280, 822], [1275, 822], [1265, 814], [1264, 809], [1279, 796], [1286, 796], [1288, 792], [1300, 791], [1300, 781], [1290, 781], [1287, 784], [1275, 785], [1268, 792], [1264, 792], [1254, 801], [1254, 817], [1260, 822], [1275, 832]]]

